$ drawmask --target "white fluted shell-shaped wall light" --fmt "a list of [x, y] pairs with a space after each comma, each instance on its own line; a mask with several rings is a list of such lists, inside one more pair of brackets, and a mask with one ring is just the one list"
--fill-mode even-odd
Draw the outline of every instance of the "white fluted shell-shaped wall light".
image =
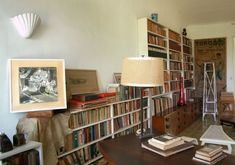
[[29, 38], [40, 24], [41, 19], [37, 14], [24, 13], [11, 18], [11, 21], [20, 36]]

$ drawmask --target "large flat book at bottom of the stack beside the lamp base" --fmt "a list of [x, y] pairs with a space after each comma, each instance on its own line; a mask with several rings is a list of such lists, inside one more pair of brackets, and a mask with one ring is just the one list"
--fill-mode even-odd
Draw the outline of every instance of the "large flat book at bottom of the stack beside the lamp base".
[[156, 147], [150, 145], [147, 141], [145, 141], [145, 142], [141, 143], [141, 147], [145, 148], [149, 151], [152, 151], [154, 153], [157, 153], [161, 156], [168, 157], [168, 156], [171, 156], [171, 155], [176, 154], [178, 152], [182, 152], [184, 150], [190, 149], [190, 148], [194, 147], [194, 145], [189, 142], [184, 142], [183, 144], [178, 145], [176, 147], [173, 147], [173, 148], [170, 148], [167, 150], [161, 150], [159, 148], [156, 148]]

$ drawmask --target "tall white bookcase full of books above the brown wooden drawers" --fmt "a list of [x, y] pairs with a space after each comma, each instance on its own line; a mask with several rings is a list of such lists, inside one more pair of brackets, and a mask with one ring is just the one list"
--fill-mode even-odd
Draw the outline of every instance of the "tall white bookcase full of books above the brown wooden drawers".
[[186, 99], [194, 89], [193, 41], [149, 18], [138, 20], [139, 56], [164, 60], [164, 93], [178, 97], [180, 77], [184, 78]]

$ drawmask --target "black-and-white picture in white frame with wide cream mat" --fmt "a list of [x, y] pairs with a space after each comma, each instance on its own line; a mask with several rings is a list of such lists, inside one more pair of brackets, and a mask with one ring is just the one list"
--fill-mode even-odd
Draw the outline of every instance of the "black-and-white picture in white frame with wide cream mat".
[[10, 59], [10, 111], [64, 109], [63, 59]]

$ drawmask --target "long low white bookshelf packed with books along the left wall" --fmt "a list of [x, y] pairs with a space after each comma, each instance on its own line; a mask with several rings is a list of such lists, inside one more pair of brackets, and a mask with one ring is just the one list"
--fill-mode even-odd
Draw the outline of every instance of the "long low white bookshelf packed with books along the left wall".
[[[135, 90], [128, 88], [129, 92]], [[126, 93], [127, 94], [127, 93]], [[133, 96], [133, 98], [132, 98]], [[128, 93], [126, 100], [91, 108], [70, 108], [65, 152], [58, 155], [59, 164], [92, 164], [103, 156], [98, 142], [136, 132], [140, 125], [140, 98]], [[144, 98], [144, 127], [147, 127], [147, 96]]]

